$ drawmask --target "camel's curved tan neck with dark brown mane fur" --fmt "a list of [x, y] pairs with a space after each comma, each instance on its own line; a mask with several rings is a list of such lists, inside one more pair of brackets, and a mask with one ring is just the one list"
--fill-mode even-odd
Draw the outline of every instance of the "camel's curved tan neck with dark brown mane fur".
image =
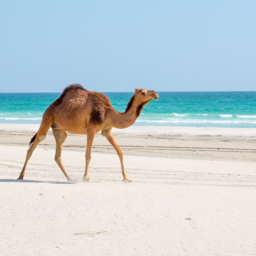
[[112, 126], [119, 129], [131, 126], [134, 124], [138, 116], [140, 116], [142, 109], [143, 104], [138, 102], [136, 98], [134, 99], [134, 97], [132, 97], [124, 113], [119, 113], [113, 109], [111, 113]]

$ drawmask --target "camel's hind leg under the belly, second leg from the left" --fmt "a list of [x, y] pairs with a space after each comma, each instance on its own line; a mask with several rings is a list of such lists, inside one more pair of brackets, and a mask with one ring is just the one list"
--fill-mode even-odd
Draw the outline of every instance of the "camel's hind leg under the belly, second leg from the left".
[[52, 134], [56, 140], [56, 152], [55, 152], [54, 160], [60, 167], [61, 171], [64, 173], [67, 180], [74, 181], [74, 180], [70, 179], [70, 177], [68, 176], [67, 172], [65, 171], [65, 168], [63, 167], [62, 161], [61, 161], [62, 144], [67, 139], [68, 134], [67, 134], [67, 132], [65, 132], [62, 129], [54, 129], [54, 128], [52, 128]]

